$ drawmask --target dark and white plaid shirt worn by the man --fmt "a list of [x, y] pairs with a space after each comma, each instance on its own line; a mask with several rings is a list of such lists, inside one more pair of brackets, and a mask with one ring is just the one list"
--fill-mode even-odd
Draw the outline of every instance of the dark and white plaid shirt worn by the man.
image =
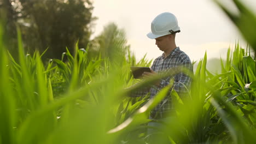
[[[161, 73], [165, 70], [177, 68], [179, 66], [183, 66], [193, 71], [193, 67], [188, 55], [183, 51], [179, 50], [179, 47], [176, 47], [176, 49], [174, 49], [166, 58], [164, 56], [164, 53], [160, 57], [156, 58], [151, 69], [154, 70], [156, 73]], [[161, 79], [159, 87], [153, 86], [150, 88], [143, 88], [141, 91], [133, 92], [131, 97], [140, 97], [150, 92], [150, 98], [153, 98], [155, 97], [156, 93], [161, 90], [161, 88], [169, 85], [171, 78], [172, 77], [166, 77], [165, 79]], [[184, 96], [186, 93], [188, 93], [187, 89], [185, 88], [185, 86], [189, 88], [191, 85], [191, 78], [188, 75], [179, 73], [174, 75], [173, 79], [174, 83], [172, 88], [179, 94], [179, 96]], [[171, 103], [171, 97], [169, 92], [167, 97], [165, 97], [165, 99], [163, 99], [151, 111], [150, 116], [154, 117], [157, 115], [159, 118], [163, 118], [165, 117], [165, 114], [173, 110], [173, 108], [174, 107]]]

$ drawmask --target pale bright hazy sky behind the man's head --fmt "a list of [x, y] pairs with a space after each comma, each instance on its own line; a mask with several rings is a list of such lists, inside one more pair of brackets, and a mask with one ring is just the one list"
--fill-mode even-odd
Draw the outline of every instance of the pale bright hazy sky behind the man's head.
[[[223, 1], [223, 0], [222, 0]], [[224, 1], [236, 13], [230, 0]], [[243, 0], [252, 10], [255, 0]], [[240, 33], [212, 0], [94, 0], [93, 16], [98, 17], [92, 38], [103, 31], [109, 22], [115, 22], [126, 32], [127, 43], [136, 58], [147, 53], [148, 59], [162, 54], [147, 33], [153, 19], [164, 12], [176, 15], [181, 33], [176, 34], [176, 45], [187, 53], [191, 61], [198, 61], [207, 52], [207, 58], [225, 58], [228, 47], [236, 41], [246, 46]]]

